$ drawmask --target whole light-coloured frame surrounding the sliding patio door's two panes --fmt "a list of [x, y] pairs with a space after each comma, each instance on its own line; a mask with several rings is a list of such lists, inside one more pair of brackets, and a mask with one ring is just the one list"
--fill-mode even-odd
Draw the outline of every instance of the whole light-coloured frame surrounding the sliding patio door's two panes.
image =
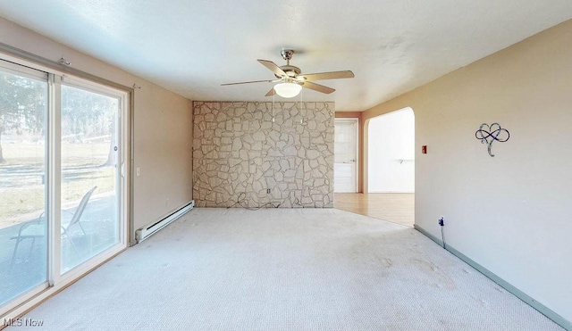
[[[63, 68], [58, 62], [53, 62], [46, 58], [40, 57], [35, 54], [29, 54], [28, 52], [21, 51], [12, 46], [7, 46], [0, 43], [0, 60], [7, 62], [13, 62], [13, 64], [23, 67], [29, 67], [34, 70], [44, 71], [48, 74], [48, 84], [52, 87], [48, 87], [48, 123], [47, 133], [46, 133], [46, 145], [49, 150], [47, 162], [46, 174], [48, 177], [48, 187], [46, 188], [46, 199], [52, 199], [48, 201], [46, 206], [49, 217], [55, 218], [53, 224], [48, 225], [47, 229], [47, 251], [48, 251], [48, 270], [47, 270], [47, 281], [43, 285], [38, 285], [36, 288], [31, 289], [27, 294], [22, 294], [21, 296], [14, 298], [13, 301], [7, 302], [0, 310], [0, 319], [16, 319], [21, 317], [27, 311], [36, 307], [39, 303], [44, 302], [47, 298], [54, 294], [62, 291], [68, 285], [76, 282], [80, 277], [87, 275], [94, 269], [97, 269], [100, 265], [113, 259], [116, 255], [123, 252], [130, 245], [130, 241], [134, 240], [131, 236], [132, 228], [132, 189], [133, 189], [133, 178], [132, 178], [132, 160], [133, 160], [133, 109], [134, 109], [134, 89], [131, 87], [125, 87], [121, 84], [117, 84], [113, 81], [99, 78], [95, 75], [89, 74], [87, 72], [77, 70], [71, 67]], [[50, 79], [49, 77], [52, 77]], [[58, 107], [60, 102], [60, 95], [58, 95], [58, 90], [60, 90], [60, 81], [58, 79], [72, 80], [80, 85], [85, 84], [85, 86], [90, 86], [91, 89], [99, 89], [99, 93], [105, 94], [105, 91], [111, 91], [111, 95], [121, 95], [122, 101], [120, 102], [119, 110], [119, 123], [118, 128], [121, 128], [121, 141], [118, 143], [122, 145], [122, 153], [118, 155], [122, 162], [118, 162], [119, 176], [121, 180], [120, 194], [120, 212], [122, 217], [122, 224], [120, 230], [120, 242], [112, 247], [109, 247], [104, 252], [98, 253], [96, 256], [92, 257], [88, 261], [81, 263], [74, 269], [69, 270], [64, 274], [58, 274], [60, 271], [59, 263], [52, 261], [55, 256], [58, 256], [56, 260], [60, 259], [59, 253], [59, 242], [60, 236], [58, 234], [58, 224], [61, 219], [59, 219], [60, 206], [59, 203], [54, 201], [55, 198], [59, 199], [60, 185], [54, 185], [56, 179], [59, 178], [59, 160], [57, 157], [60, 155], [58, 149], [59, 144], [55, 143], [60, 137], [60, 128], [58, 126], [59, 111], [55, 112], [54, 107]], [[69, 81], [68, 80], [68, 81]], [[55, 104], [52, 104], [55, 103]], [[54, 116], [55, 115], [55, 116]], [[118, 137], [119, 138], [119, 137]], [[51, 192], [47, 192], [47, 191]], [[50, 240], [50, 238], [54, 238]], [[57, 265], [56, 265], [57, 264]], [[57, 271], [57, 272], [56, 272]]]

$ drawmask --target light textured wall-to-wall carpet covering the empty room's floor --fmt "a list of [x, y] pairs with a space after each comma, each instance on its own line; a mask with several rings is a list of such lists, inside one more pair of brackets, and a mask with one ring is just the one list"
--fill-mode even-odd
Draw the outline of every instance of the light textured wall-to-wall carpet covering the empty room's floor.
[[562, 330], [413, 228], [194, 209], [8, 330]]

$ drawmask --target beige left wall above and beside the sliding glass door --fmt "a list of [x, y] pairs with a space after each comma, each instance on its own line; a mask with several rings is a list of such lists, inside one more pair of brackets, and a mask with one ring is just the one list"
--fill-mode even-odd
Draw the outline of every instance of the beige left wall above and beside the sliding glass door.
[[141, 170], [141, 176], [134, 178], [134, 228], [189, 203], [192, 111], [188, 99], [2, 18], [0, 42], [55, 62], [64, 56], [74, 69], [126, 87], [141, 87], [134, 92], [134, 166]]

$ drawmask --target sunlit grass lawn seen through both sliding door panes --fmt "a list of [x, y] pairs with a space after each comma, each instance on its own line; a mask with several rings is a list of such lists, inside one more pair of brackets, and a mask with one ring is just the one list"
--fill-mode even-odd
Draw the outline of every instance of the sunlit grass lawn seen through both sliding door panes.
[[[45, 210], [45, 145], [2, 145], [0, 228], [36, 219]], [[62, 144], [62, 206], [79, 203], [93, 186], [94, 196], [115, 189], [115, 166], [104, 166], [109, 143]]]

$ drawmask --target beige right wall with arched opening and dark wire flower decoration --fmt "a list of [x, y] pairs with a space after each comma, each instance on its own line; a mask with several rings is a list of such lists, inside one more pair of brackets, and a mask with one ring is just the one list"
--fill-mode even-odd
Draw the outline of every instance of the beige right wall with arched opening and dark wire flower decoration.
[[[572, 320], [572, 21], [364, 113], [416, 117], [416, 225]], [[506, 143], [475, 138], [482, 123]], [[428, 153], [421, 154], [421, 145]]]

